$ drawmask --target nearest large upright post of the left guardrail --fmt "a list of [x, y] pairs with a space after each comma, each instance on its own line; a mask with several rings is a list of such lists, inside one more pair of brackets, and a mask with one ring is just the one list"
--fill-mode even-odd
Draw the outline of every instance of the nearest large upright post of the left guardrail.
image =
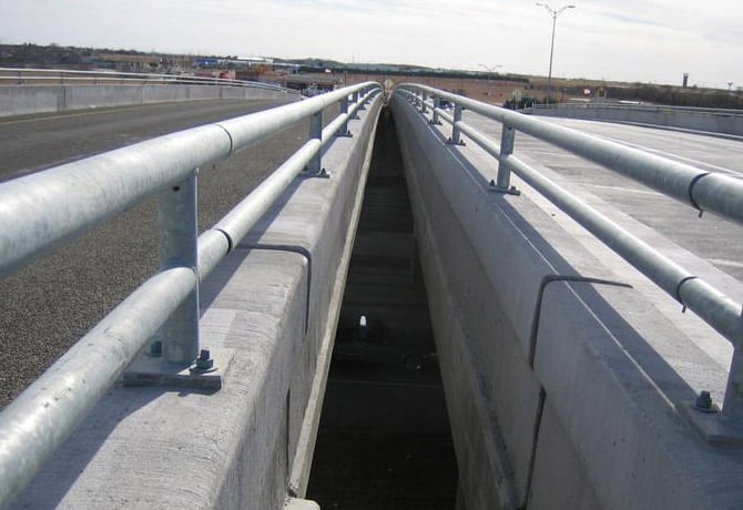
[[[160, 231], [160, 268], [197, 267], [196, 175], [160, 193], [157, 225]], [[199, 278], [189, 297], [160, 328], [166, 361], [185, 365], [199, 354]], [[155, 340], [157, 341], [157, 340]], [[157, 350], [157, 349], [154, 349]]]

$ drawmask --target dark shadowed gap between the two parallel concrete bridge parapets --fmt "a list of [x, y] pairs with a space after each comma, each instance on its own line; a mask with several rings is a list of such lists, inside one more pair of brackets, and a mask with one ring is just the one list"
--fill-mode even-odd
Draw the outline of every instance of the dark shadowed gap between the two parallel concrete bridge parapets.
[[323, 509], [452, 509], [456, 490], [399, 145], [384, 110], [307, 498]]

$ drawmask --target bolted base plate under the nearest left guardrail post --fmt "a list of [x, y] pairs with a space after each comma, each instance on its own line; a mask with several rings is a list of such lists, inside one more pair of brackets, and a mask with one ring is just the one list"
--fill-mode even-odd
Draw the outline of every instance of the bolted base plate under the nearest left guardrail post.
[[[151, 353], [141, 353], [124, 373], [124, 386], [171, 386], [217, 391], [232, 365], [233, 349], [210, 349], [211, 366], [174, 364]], [[203, 360], [202, 360], [203, 361]]]

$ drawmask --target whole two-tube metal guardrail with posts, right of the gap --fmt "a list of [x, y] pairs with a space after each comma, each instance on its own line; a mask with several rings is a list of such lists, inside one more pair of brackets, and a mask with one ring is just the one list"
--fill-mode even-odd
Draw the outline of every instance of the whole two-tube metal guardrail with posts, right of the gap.
[[[484, 104], [460, 95], [418, 84], [404, 84], [396, 94], [430, 114], [431, 123], [439, 119], [451, 124], [450, 142], [461, 143], [465, 133], [499, 161], [491, 185], [503, 193], [515, 192], [510, 172], [549, 198], [554, 205], [580, 223], [607, 246], [648, 276], [665, 293], [692, 309], [703, 320], [727, 338], [733, 347], [733, 360], [721, 417], [727, 422], [743, 422], [743, 317], [741, 304], [713, 288], [702, 278], [688, 272], [652, 246], [633, 236], [570, 192], [549, 181], [512, 154], [516, 131], [521, 131], [558, 147], [593, 161], [617, 173], [643, 183], [701, 212], [712, 211], [743, 223], [743, 180], [710, 173], [690, 165], [665, 160], [619, 143], [601, 140], [576, 130], [550, 124], [529, 115]], [[454, 105], [454, 112], [441, 109], [441, 101]], [[462, 109], [502, 124], [500, 145], [461, 120]]]

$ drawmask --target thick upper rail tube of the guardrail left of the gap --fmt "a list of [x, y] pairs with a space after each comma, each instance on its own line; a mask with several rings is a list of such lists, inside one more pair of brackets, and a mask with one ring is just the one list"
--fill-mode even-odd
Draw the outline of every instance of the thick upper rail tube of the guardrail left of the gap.
[[[159, 136], [0, 185], [0, 277], [370, 83]], [[125, 176], [125, 178], [124, 178]]]

